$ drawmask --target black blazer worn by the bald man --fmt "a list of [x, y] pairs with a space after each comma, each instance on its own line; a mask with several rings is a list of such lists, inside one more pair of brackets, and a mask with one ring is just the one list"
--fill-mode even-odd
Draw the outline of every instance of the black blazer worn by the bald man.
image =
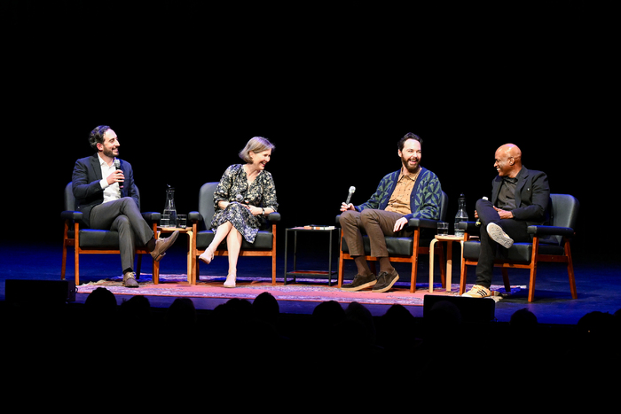
[[[491, 204], [494, 206], [496, 206], [501, 185], [501, 176], [496, 176], [491, 182]], [[529, 226], [548, 222], [549, 201], [550, 186], [547, 184], [546, 173], [522, 167], [515, 185], [516, 207], [511, 211], [515, 219], [522, 220]]]

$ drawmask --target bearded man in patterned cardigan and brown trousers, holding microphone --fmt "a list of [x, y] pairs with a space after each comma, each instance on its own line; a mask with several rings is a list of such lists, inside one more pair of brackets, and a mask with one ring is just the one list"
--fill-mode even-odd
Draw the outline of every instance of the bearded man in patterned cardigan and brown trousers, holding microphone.
[[[385, 237], [410, 235], [405, 226], [411, 218], [440, 218], [442, 187], [434, 173], [421, 167], [421, 145], [421, 137], [412, 132], [405, 134], [397, 145], [401, 168], [384, 176], [366, 203], [342, 203], [342, 235], [358, 268], [354, 280], [343, 290], [373, 287], [373, 292], [388, 292], [399, 275], [390, 263]], [[366, 262], [363, 231], [369, 238], [371, 255], [380, 262], [378, 276]]]

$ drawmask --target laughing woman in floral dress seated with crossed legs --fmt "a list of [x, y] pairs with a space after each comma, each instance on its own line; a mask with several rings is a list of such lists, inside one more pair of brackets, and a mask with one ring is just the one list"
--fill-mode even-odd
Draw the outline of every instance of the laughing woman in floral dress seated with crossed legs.
[[226, 168], [214, 192], [216, 212], [210, 227], [216, 231], [216, 236], [199, 259], [211, 262], [217, 246], [226, 240], [229, 273], [224, 287], [235, 287], [242, 239], [254, 243], [263, 215], [278, 208], [274, 180], [265, 171], [273, 149], [274, 145], [263, 137], [250, 139], [240, 152], [240, 158], [246, 164]]

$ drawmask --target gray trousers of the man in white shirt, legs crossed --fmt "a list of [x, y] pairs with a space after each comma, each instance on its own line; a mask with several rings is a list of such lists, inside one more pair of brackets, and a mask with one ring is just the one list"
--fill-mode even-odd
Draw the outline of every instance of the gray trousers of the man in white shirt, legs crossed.
[[90, 210], [90, 228], [119, 232], [123, 272], [133, 269], [136, 246], [145, 246], [153, 238], [153, 229], [145, 222], [131, 197], [93, 207]]

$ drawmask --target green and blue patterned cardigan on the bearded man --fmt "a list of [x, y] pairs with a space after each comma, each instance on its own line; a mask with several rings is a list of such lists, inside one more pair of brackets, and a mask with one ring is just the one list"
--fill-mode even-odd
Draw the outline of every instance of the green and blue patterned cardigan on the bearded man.
[[[427, 218], [432, 220], [440, 219], [440, 200], [442, 199], [442, 186], [436, 174], [427, 168], [421, 167], [419, 174], [410, 196], [411, 214], [405, 218]], [[375, 208], [384, 210], [388, 206], [390, 195], [395, 190], [401, 169], [394, 173], [384, 176], [377, 190], [366, 203], [356, 206], [356, 210], [362, 211], [365, 208]]]

